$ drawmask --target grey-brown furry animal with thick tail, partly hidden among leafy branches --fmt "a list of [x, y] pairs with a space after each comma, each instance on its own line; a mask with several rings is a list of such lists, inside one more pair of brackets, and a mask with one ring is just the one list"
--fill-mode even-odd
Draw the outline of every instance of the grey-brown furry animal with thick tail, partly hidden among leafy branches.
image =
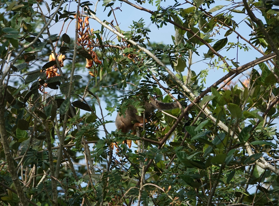
[[[174, 108], [178, 108], [178, 104], [176, 102], [172, 103], [163, 103], [161, 101], [158, 101], [157, 99], [152, 99], [150, 102], [145, 102], [144, 104], [144, 109], [145, 112], [151, 113], [155, 109], [158, 110], [170, 110]], [[143, 126], [144, 124], [144, 118], [143, 115], [139, 116], [137, 115], [137, 110], [133, 106], [130, 106], [129, 108], [126, 109], [125, 111], [125, 118], [123, 114], [120, 116], [120, 113], [117, 113], [117, 117], [115, 120], [115, 125], [117, 127], [117, 130], [122, 130], [122, 132], [129, 132], [130, 130], [133, 130], [132, 134], [136, 134], [135, 128]], [[137, 121], [134, 123], [134, 121]], [[145, 122], [147, 120], [145, 119]], [[126, 140], [129, 148], [131, 148], [132, 140]]]

